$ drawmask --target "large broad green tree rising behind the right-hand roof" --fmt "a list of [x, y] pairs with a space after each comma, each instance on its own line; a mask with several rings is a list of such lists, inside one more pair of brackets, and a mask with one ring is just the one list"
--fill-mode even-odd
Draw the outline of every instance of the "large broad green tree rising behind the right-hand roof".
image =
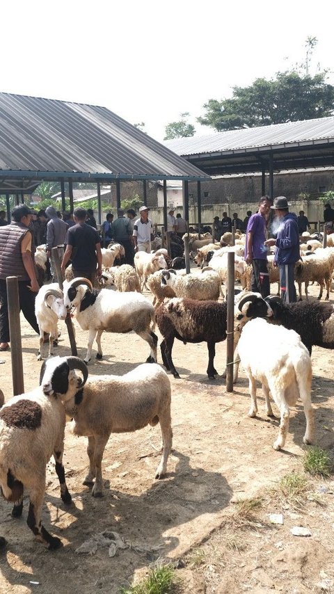
[[328, 71], [310, 74], [317, 38], [305, 42], [305, 60], [270, 80], [256, 79], [248, 87], [234, 86], [230, 99], [209, 99], [200, 124], [218, 131], [325, 118], [334, 113], [334, 86]]

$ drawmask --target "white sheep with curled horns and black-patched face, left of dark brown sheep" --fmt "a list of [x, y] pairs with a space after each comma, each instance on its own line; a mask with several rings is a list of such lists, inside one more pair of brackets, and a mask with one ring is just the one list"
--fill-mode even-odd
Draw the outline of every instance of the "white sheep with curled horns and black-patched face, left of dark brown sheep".
[[97, 291], [86, 278], [74, 278], [63, 287], [64, 303], [67, 310], [76, 308], [74, 316], [82, 330], [89, 331], [88, 348], [84, 362], [92, 355], [93, 341], [96, 337], [97, 359], [102, 359], [101, 336], [106, 332], [130, 332], [150, 345], [147, 362], [157, 361], [157, 336], [150, 328], [154, 324], [154, 307], [150, 301], [138, 293], [118, 293], [108, 289]]

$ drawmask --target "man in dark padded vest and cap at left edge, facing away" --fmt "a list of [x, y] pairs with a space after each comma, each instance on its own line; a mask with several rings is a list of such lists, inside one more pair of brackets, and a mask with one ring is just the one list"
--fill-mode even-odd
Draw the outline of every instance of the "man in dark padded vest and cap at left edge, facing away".
[[26, 204], [15, 207], [10, 225], [0, 227], [0, 351], [9, 348], [9, 323], [6, 278], [17, 276], [19, 308], [26, 321], [38, 334], [35, 316], [35, 296], [40, 287], [37, 282], [33, 255], [33, 235], [29, 230], [33, 214]]

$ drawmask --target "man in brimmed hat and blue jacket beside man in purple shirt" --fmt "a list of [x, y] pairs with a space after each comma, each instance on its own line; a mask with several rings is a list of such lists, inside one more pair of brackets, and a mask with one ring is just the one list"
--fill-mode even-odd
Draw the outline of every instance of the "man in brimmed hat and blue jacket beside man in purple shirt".
[[294, 286], [294, 264], [301, 258], [299, 251], [299, 230], [297, 217], [289, 212], [290, 204], [285, 196], [278, 196], [271, 209], [275, 211], [273, 233], [276, 239], [267, 239], [266, 246], [276, 246], [273, 265], [280, 271], [280, 296], [284, 303], [297, 300]]

